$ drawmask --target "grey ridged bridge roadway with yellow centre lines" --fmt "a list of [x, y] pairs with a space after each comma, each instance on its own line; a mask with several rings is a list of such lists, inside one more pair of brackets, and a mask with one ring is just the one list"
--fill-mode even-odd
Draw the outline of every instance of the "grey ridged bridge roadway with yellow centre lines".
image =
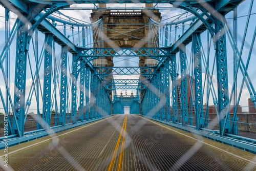
[[252, 153], [138, 115], [114, 115], [8, 152], [13, 170], [256, 169]]

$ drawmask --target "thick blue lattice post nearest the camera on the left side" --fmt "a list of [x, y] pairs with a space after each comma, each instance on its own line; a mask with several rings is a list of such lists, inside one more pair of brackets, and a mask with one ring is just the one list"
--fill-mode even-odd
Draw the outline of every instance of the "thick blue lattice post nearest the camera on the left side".
[[[14, 80], [14, 111], [12, 129], [13, 134], [24, 136], [25, 118], [25, 90], [26, 90], [26, 68], [27, 53], [29, 50], [28, 33], [26, 24], [20, 24], [17, 30], [16, 41], [16, 61], [15, 61], [15, 80]], [[16, 122], [17, 121], [17, 125]]]

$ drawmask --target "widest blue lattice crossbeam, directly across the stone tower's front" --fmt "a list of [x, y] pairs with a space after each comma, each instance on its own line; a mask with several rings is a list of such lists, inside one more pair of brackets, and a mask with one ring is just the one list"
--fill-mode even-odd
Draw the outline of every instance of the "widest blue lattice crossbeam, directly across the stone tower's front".
[[168, 48], [80, 48], [79, 56], [119, 57], [119, 56], [169, 56]]

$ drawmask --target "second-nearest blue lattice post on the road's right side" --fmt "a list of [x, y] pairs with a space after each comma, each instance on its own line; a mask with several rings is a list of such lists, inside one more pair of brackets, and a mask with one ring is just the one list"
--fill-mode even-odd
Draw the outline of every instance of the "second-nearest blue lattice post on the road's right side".
[[[203, 84], [202, 84], [202, 56], [200, 50], [200, 33], [193, 34], [192, 48], [194, 57], [195, 74], [195, 105], [196, 105], [196, 128], [204, 127], [203, 113]], [[193, 80], [191, 80], [193, 81]]]

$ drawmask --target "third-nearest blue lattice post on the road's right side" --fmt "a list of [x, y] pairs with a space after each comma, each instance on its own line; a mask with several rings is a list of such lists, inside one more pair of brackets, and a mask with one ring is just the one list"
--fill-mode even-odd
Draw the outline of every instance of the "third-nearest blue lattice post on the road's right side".
[[186, 57], [186, 47], [180, 47], [180, 69], [181, 69], [181, 114], [182, 114], [182, 125], [188, 122], [187, 113], [187, 57]]

